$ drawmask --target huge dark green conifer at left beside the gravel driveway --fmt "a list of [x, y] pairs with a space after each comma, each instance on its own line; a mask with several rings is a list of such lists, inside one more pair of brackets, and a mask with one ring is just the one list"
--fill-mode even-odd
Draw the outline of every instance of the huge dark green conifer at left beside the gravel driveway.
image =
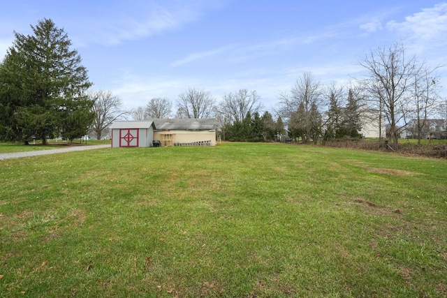
[[15, 32], [0, 67], [0, 140], [27, 144], [36, 138], [45, 144], [57, 135], [73, 140], [93, 120], [87, 70], [52, 20], [31, 29], [27, 36]]

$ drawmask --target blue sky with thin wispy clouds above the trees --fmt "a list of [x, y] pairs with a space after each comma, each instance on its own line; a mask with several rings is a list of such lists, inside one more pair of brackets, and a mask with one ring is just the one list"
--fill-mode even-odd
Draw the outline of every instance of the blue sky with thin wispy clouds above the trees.
[[[94, 83], [126, 109], [177, 100], [190, 87], [219, 101], [256, 90], [266, 110], [310, 71], [322, 84], [365, 75], [376, 47], [403, 43], [429, 66], [447, 66], [447, 2], [431, 0], [1, 0], [0, 57], [13, 31], [52, 19]], [[443, 98], [447, 70], [439, 70]], [[174, 112], [174, 111], [173, 111]]]

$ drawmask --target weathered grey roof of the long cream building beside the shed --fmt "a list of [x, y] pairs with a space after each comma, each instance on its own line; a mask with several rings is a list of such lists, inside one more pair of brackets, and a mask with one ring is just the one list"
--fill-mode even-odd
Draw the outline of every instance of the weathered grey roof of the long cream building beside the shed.
[[215, 129], [216, 119], [150, 119], [161, 131], [207, 131]]

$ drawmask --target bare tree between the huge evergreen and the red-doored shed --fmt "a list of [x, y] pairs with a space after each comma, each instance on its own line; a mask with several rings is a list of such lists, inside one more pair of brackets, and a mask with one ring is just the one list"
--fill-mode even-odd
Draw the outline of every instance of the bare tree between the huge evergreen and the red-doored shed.
[[94, 91], [89, 94], [93, 101], [94, 122], [92, 131], [96, 138], [101, 140], [103, 131], [112, 124], [113, 121], [124, 119], [130, 112], [122, 110], [122, 101], [114, 96], [111, 91]]

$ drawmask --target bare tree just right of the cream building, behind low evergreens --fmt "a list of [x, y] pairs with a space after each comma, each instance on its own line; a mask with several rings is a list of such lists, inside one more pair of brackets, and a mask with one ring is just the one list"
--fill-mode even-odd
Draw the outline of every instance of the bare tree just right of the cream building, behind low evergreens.
[[262, 108], [261, 98], [256, 91], [240, 89], [239, 91], [223, 95], [223, 100], [219, 105], [219, 112], [226, 115], [230, 121], [240, 121], [247, 115], [259, 112]]

